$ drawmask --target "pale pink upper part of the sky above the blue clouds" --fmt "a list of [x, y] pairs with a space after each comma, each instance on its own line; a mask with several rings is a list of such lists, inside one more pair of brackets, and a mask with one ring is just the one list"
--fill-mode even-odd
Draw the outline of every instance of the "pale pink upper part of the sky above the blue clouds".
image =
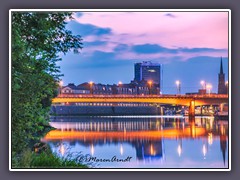
[[[79, 23], [111, 28], [109, 41], [165, 47], [228, 48], [228, 12], [88, 12]], [[125, 35], [123, 35], [125, 34]]]

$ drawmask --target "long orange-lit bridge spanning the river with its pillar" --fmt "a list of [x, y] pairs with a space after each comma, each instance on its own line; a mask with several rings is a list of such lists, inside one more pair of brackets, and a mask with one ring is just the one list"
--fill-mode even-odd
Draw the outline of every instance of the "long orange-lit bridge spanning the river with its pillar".
[[61, 94], [52, 100], [57, 103], [158, 103], [189, 106], [189, 116], [195, 116], [195, 106], [228, 103], [228, 95], [84, 95]]

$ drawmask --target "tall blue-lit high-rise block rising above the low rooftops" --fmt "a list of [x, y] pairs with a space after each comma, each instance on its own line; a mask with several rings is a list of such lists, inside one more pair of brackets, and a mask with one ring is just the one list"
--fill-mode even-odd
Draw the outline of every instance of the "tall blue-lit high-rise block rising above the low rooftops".
[[143, 61], [134, 64], [134, 81], [152, 81], [161, 88], [161, 64]]

